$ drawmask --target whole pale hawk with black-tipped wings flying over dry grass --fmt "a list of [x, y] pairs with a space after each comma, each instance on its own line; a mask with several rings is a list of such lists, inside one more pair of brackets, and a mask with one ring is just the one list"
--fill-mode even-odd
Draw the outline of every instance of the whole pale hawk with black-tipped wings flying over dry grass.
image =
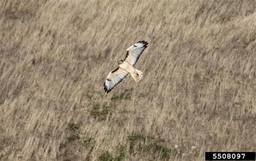
[[106, 93], [109, 93], [129, 74], [131, 74], [132, 78], [136, 82], [142, 79], [143, 73], [135, 68], [135, 64], [147, 47], [147, 44], [149, 43], [146, 41], [139, 41], [138, 43], [127, 48], [124, 60], [116, 60], [118, 67], [107, 75], [104, 83], [104, 90]]

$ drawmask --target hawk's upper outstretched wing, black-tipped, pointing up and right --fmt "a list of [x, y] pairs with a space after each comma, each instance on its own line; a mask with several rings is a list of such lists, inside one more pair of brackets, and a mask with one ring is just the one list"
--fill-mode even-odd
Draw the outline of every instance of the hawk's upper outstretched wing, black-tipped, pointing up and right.
[[127, 48], [124, 60], [130, 62], [130, 64], [134, 66], [139, 60], [140, 55], [142, 55], [143, 51], [147, 47], [147, 44], [149, 44], [147, 41], [139, 41]]

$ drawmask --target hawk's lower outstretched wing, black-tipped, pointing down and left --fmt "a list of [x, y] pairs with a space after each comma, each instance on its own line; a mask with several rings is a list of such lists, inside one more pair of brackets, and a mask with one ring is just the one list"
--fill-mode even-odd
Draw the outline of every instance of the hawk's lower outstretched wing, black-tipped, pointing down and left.
[[111, 71], [109, 75], [107, 75], [104, 83], [105, 92], [109, 93], [114, 88], [114, 86], [122, 82], [128, 74], [128, 72], [119, 67]]

